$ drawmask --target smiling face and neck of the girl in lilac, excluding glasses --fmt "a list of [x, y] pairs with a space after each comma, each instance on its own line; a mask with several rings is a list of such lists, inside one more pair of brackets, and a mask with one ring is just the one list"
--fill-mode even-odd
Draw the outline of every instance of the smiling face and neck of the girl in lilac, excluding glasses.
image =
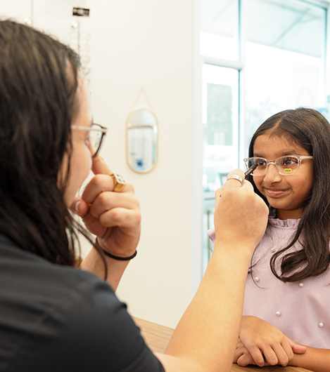
[[[284, 137], [259, 135], [253, 146], [253, 157], [263, 157], [274, 161], [284, 155], [305, 155], [308, 152], [298, 143]], [[281, 175], [274, 164], [269, 164], [265, 175], [254, 175], [258, 190], [267, 198], [268, 203], [277, 208], [280, 220], [300, 218], [303, 213], [303, 201], [312, 189], [314, 172], [312, 159], [303, 159], [298, 172], [293, 175]]]

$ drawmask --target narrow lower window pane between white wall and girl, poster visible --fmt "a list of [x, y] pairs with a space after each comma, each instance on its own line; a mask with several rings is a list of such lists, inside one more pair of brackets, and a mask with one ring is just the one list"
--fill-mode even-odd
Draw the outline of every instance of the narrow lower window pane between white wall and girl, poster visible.
[[203, 267], [212, 244], [215, 190], [239, 164], [239, 71], [203, 65]]

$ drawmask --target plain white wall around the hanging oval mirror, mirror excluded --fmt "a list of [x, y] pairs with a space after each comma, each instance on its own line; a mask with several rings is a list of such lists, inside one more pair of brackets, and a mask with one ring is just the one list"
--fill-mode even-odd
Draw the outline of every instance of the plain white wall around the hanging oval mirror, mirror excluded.
[[[102, 154], [141, 201], [139, 254], [118, 295], [134, 316], [174, 327], [191, 298], [193, 1], [93, 1], [91, 22], [94, 118], [109, 127]], [[159, 125], [158, 165], [144, 175], [125, 160], [141, 86]]]

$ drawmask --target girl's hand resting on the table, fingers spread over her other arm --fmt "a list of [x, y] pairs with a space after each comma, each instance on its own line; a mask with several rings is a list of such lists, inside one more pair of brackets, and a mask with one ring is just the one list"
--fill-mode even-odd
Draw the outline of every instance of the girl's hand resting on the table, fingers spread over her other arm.
[[[242, 317], [239, 338], [260, 367], [265, 366], [265, 362], [271, 366], [286, 366], [293, 359], [293, 353], [303, 354], [306, 351], [305, 346], [295, 343], [278, 328], [258, 317]], [[245, 363], [248, 358], [244, 357], [241, 362]]]

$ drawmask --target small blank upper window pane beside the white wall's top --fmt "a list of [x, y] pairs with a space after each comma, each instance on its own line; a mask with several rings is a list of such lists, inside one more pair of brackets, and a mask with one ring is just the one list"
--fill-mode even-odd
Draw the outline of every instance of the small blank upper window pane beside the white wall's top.
[[239, 59], [239, 0], [201, 0], [201, 55]]

